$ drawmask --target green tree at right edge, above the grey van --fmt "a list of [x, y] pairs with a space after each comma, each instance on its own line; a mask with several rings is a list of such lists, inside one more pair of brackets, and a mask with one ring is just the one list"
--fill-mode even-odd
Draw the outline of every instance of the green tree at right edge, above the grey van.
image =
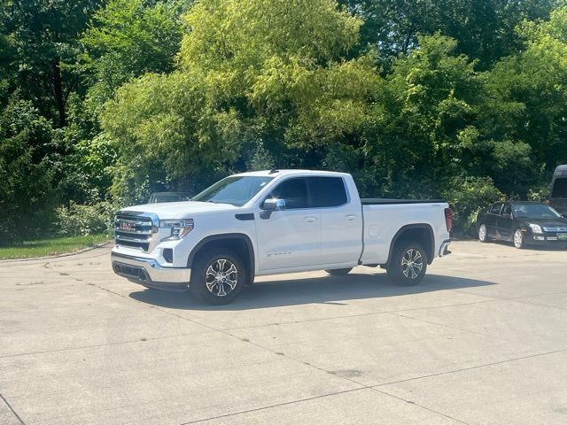
[[[539, 166], [567, 162], [567, 7], [520, 28], [525, 48], [487, 73], [485, 133], [528, 143]], [[493, 117], [491, 119], [491, 117]]]

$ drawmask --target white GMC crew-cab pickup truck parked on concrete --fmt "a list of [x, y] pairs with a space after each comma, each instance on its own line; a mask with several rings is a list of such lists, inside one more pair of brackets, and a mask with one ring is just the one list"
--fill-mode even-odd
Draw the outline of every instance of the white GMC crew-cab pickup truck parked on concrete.
[[361, 199], [350, 174], [270, 170], [231, 175], [188, 202], [116, 213], [116, 274], [145, 287], [187, 290], [226, 304], [254, 276], [383, 267], [420, 282], [449, 253], [442, 201]]

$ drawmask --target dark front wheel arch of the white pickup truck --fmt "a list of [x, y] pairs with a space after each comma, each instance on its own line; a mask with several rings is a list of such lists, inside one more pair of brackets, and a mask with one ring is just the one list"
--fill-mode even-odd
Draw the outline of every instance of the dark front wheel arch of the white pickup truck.
[[201, 239], [190, 251], [187, 258], [187, 267], [191, 267], [200, 252], [206, 249], [229, 248], [235, 251], [243, 259], [249, 276], [249, 282], [253, 282], [255, 274], [254, 247], [250, 236], [244, 233], [225, 233], [221, 235], [206, 236]]

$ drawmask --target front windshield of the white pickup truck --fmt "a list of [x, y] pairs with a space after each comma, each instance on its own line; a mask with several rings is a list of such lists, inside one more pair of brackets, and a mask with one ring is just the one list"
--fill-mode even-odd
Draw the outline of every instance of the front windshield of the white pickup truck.
[[213, 186], [203, 190], [191, 201], [214, 202], [215, 204], [245, 205], [273, 177], [236, 176], [222, 179]]

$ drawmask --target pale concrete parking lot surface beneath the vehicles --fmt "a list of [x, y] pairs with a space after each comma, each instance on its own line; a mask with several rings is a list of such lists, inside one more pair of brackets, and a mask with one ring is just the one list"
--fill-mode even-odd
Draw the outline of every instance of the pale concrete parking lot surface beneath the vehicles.
[[452, 251], [414, 288], [359, 267], [221, 307], [109, 248], [0, 263], [0, 423], [567, 423], [567, 251]]

